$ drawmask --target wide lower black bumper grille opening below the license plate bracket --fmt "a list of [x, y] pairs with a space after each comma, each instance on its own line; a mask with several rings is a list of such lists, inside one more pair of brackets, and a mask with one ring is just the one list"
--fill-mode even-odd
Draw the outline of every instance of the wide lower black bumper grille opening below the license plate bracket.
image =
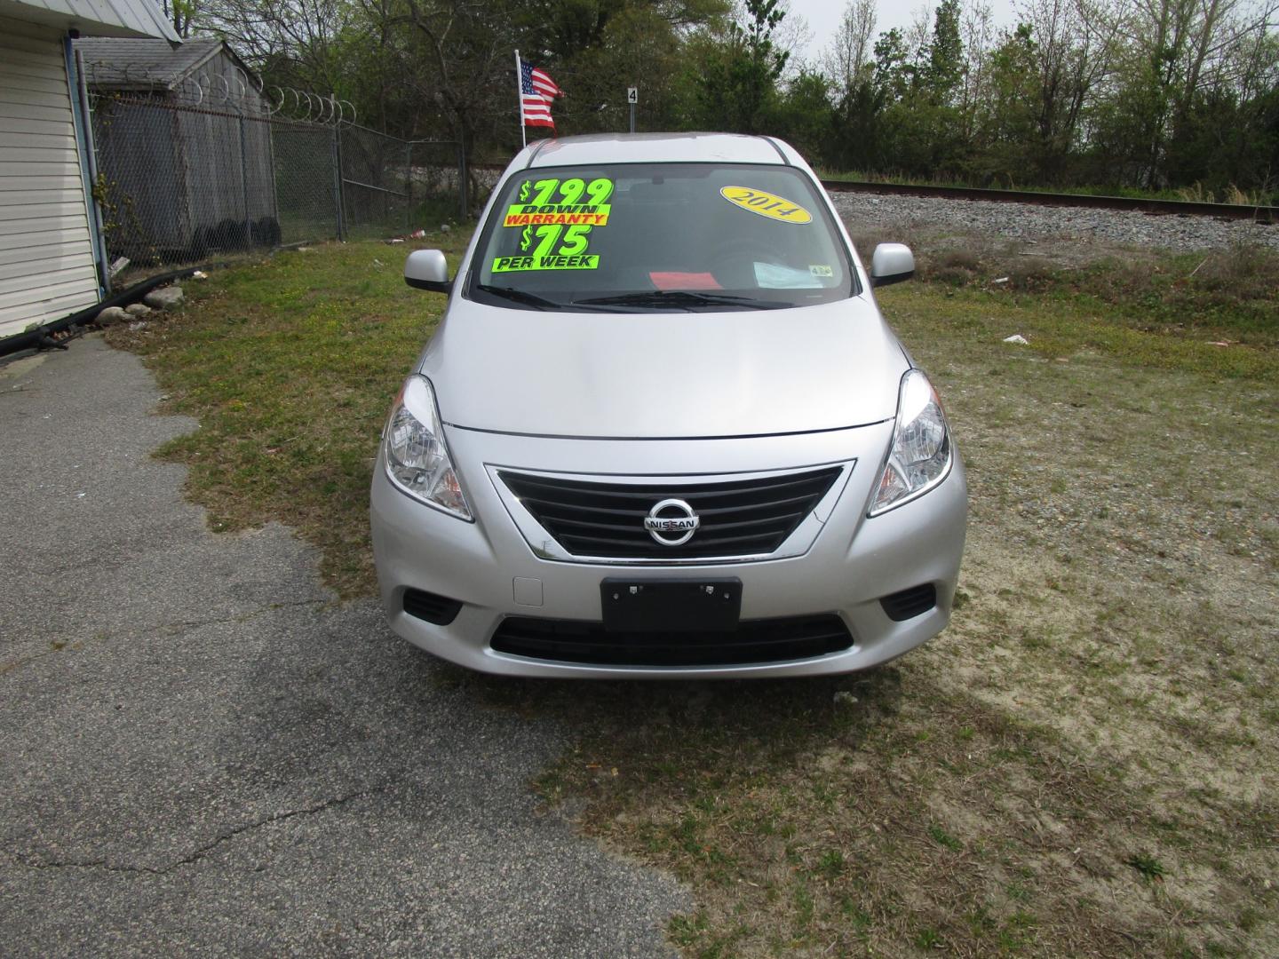
[[848, 650], [853, 637], [835, 615], [742, 621], [730, 633], [609, 633], [602, 623], [509, 616], [496, 652], [600, 666], [719, 666], [807, 660]]

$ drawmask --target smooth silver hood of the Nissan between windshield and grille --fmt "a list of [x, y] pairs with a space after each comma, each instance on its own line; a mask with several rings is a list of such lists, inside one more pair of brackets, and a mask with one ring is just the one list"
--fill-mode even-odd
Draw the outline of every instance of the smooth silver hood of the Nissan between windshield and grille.
[[762, 436], [897, 414], [908, 368], [866, 297], [796, 309], [568, 313], [460, 297], [422, 357], [440, 418], [537, 436]]

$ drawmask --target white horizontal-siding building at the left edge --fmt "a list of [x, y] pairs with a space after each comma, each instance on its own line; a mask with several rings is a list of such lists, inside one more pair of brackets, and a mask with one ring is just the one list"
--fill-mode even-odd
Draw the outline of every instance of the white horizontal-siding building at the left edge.
[[104, 292], [74, 35], [179, 42], [152, 0], [0, 0], [0, 338]]

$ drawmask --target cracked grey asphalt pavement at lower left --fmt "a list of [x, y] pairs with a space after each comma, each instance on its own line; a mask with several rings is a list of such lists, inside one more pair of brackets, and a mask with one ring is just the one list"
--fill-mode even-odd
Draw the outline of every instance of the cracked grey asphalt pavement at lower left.
[[687, 894], [536, 808], [568, 730], [208, 532], [156, 400], [97, 338], [0, 362], [0, 953], [669, 955]]

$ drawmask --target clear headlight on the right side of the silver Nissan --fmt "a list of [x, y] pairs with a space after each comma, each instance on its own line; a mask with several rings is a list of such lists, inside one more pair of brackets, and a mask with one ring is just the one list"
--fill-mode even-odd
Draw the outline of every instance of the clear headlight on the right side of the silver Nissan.
[[922, 496], [950, 472], [950, 431], [941, 400], [921, 370], [902, 377], [893, 445], [875, 483], [871, 515]]

